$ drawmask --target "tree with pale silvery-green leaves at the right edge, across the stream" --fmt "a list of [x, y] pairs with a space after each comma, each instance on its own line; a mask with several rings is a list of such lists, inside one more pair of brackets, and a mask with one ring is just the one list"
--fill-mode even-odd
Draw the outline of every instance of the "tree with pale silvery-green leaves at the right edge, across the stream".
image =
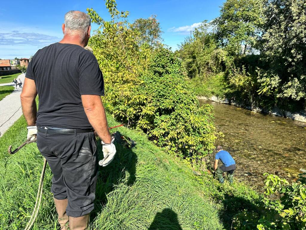
[[[306, 2], [266, 0], [260, 40], [259, 92], [274, 98], [305, 102]], [[287, 100], [286, 100], [287, 99]], [[288, 101], [289, 100], [289, 101]]]

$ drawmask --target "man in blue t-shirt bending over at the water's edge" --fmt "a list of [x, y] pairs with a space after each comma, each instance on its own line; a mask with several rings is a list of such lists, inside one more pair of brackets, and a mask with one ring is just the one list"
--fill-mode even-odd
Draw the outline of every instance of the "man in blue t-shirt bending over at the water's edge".
[[[236, 169], [236, 162], [229, 152], [224, 151], [222, 146], [218, 145], [217, 154], [215, 157], [215, 171], [221, 183], [224, 183], [223, 173], [227, 172], [227, 177], [230, 184], [233, 183], [234, 171]], [[218, 168], [218, 161], [221, 160], [223, 165]]]

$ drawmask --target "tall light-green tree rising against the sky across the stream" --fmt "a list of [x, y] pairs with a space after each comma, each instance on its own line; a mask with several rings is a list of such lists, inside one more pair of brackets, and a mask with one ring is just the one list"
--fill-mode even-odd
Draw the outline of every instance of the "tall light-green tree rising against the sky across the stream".
[[217, 39], [231, 54], [245, 53], [247, 46], [254, 47], [260, 35], [262, 0], [227, 0], [220, 16], [212, 21]]

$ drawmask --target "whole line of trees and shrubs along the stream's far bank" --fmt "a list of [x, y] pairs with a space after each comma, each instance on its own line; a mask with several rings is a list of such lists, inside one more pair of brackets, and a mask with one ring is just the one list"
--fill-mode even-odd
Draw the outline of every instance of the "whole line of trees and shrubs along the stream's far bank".
[[198, 94], [305, 109], [306, 1], [227, 0], [177, 54]]

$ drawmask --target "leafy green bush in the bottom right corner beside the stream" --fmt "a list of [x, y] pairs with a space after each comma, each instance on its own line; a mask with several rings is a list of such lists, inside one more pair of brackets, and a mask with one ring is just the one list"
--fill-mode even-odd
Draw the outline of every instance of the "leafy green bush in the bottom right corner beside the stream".
[[[265, 174], [265, 192], [257, 210], [244, 210], [234, 218], [234, 229], [306, 229], [306, 173], [291, 185]], [[276, 196], [279, 198], [273, 199]]]

